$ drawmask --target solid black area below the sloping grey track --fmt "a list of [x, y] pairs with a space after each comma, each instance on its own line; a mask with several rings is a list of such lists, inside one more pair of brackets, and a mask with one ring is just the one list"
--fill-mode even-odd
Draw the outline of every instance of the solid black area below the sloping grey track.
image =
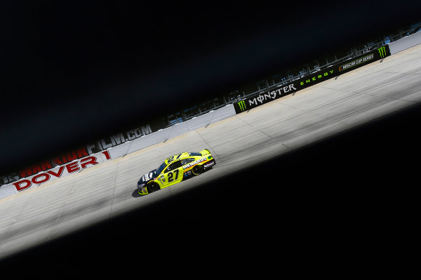
[[[90, 270], [105, 262], [136, 266], [144, 256], [168, 254], [175, 258], [168, 265], [174, 265], [187, 254], [190, 265], [207, 267], [203, 262], [218, 252], [220, 261], [229, 262], [224, 252], [232, 251], [245, 261], [267, 248], [369, 244], [366, 239], [410, 234], [419, 185], [420, 121], [421, 106], [410, 107], [1, 260], [1, 265], [14, 270], [25, 264], [32, 274], [74, 275], [66, 270], [69, 264]], [[262, 257], [256, 263], [268, 259], [274, 261]]]

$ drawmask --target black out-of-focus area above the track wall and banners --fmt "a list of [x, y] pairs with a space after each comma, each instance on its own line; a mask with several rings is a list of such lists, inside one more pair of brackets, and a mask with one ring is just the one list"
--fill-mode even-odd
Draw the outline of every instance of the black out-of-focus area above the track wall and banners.
[[13, 2], [1, 9], [1, 175], [397, 32], [419, 20], [414, 5]]

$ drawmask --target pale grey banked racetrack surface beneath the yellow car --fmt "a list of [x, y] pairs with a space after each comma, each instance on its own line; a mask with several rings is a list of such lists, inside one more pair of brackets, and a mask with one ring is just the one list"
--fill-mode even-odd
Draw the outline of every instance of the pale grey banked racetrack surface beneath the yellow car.
[[[421, 100], [421, 45], [166, 142], [0, 200], [0, 258]], [[210, 149], [212, 170], [145, 197], [136, 182], [172, 154]]]

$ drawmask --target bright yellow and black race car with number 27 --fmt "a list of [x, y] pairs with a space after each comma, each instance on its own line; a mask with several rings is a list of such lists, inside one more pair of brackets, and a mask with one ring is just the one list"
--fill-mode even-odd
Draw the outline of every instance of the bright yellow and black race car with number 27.
[[208, 171], [214, 166], [215, 159], [208, 149], [200, 152], [182, 152], [168, 157], [159, 168], [143, 175], [138, 181], [140, 195], [156, 192], [182, 180]]

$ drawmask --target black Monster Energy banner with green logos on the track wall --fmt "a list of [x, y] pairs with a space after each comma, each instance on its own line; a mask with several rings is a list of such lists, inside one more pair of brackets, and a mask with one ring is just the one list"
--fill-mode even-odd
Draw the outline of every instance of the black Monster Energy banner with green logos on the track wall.
[[389, 55], [389, 46], [382, 46], [381, 48], [377, 48], [373, 51], [364, 53], [363, 55], [359, 55], [356, 58], [351, 58], [345, 62], [332, 65], [319, 72], [315, 72], [311, 75], [296, 79], [295, 81], [291, 81], [289, 84], [276, 86], [269, 91], [258, 93], [251, 96], [250, 98], [236, 102], [234, 103], [235, 112], [236, 114], [239, 114], [248, 111], [249, 109], [253, 109], [272, 100], [276, 100], [285, 95], [295, 93], [296, 91], [300, 91], [309, 86], [313, 86], [314, 84], [318, 84], [321, 81], [326, 81], [340, 74], [352, 71], [363, 65], [367, 65], [368, 63], [386, 58]]

